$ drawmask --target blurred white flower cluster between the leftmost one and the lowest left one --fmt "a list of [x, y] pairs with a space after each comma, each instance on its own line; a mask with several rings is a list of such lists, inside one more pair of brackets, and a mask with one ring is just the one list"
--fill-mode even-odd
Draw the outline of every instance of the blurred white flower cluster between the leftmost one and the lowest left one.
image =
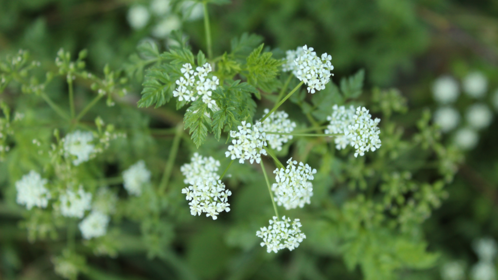
[[61, 214], [65, 217], [83, 218], [86, 210], [92, 207], [92, 194], [85, 192], [83, 186], [80, 185], [77, 192], [68, 188], [66, 193], [60, 195]]

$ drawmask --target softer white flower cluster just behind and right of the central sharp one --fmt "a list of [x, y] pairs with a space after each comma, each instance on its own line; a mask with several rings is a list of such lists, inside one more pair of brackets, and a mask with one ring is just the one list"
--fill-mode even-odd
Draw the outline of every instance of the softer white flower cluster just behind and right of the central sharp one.
[[[264, 109], [264, 115], [268, 114], [270, 110]], [[273, 112], [263, 121], [260, 131], [264, 132], [278, 132], [278, 133], [291, 133], [296, 127], [296, 123], [288, 119], [289, 115], [284, 111]], [[272, 149], [282, 150], [283, 143], [292, 139], [292, 135], [277, 135], [267, 134], [266, 140]]]

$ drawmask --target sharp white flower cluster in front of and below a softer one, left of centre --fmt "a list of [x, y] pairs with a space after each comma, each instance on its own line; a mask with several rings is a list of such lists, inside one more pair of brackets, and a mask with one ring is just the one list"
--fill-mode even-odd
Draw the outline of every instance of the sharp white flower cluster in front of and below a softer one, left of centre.
[[190, 200], [190, 214], [201, 215], [206, 213], [206, 217], [213, 217], [223, 211], [230, 211], [228, 197], [232, 195], [230, 190], [225, 189], [225, 184], [215, 178], [197, 178], [190, 181], [190, 186], [182, 189], [186, 194], [186, 199]]

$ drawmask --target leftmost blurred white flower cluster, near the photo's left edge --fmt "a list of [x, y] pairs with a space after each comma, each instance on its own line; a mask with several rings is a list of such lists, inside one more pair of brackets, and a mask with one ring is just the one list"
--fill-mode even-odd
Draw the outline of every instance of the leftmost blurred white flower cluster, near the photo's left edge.
[[48, 200], [52, 197], [47, 188], [45, 188], [47, 182], [47, 179], [42, 178], [36, 171], [29, 171], [28, 174], [15, 182], [17, 203], [26, 205], [28, 210], [33, 208], [33, 206], [40, 208], [47, 207]]

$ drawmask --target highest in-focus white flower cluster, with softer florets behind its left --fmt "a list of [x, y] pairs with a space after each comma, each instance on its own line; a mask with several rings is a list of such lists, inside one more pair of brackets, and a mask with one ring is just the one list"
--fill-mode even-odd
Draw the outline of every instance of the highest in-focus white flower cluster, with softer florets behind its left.
[[[295, 65], [292, 65], [292, 59]], [[292, 74], [308, 86], [308, 92], [315, 93], [325, 89], [325, 85], [330, 82], [330, 76], [333, 75], [330, 71], [334, 70], [331, 59], [332, 56], [327, 53], [322, 54], [321, 58], [318, 57], [313, 48], [305, 45], [296, 51], [287, 51], [283, 71], [292, 70]]]

